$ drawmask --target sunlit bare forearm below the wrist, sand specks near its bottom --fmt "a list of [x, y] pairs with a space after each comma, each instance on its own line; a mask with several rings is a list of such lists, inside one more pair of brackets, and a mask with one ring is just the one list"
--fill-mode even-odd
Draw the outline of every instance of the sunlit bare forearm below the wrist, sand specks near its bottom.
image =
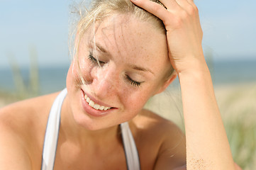
[[205, 62], [179, 72], [187, 140], [187, 169], [234, 169]]

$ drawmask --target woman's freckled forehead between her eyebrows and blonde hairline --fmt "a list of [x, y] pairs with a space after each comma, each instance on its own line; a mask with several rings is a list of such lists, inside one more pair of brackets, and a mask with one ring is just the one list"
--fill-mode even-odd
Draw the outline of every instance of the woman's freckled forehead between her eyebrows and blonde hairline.
[[111, 55], [123, 60], [155, 60], [167, 57], [166, 37], [152, 23], [139, 21], [135, 16], [115, 15], [99, 24], [95, 41]]

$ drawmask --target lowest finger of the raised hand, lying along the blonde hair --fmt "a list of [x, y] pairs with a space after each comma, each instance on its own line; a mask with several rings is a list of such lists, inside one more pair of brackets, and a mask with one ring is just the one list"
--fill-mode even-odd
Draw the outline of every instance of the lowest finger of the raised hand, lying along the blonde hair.
[[167, 11], [167, 9], [160, 4], [157, 4], [150, 0], [130, 0], [135, 4], [136, 6], [140, 6], [140, 8], [145, 9], [149, 13], [152, 13], [153, 15], [160, 18], [163, 22], [167, 21], [170, 13]]

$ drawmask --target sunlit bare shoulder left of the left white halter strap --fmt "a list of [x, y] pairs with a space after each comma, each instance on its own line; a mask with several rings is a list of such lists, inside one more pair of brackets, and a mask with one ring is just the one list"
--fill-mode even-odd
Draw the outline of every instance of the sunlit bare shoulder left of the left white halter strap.
[[37, 157], [34, 153], [40, 150], [55, 96], [30, 98], [0, 108], [0, 169], [33, 169], [31, 157]]

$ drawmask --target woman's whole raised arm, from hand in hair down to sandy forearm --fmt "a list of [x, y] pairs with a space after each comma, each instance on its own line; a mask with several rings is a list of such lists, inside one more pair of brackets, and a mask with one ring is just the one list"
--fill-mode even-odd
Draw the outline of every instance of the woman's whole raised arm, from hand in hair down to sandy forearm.
[[160, 18], [169, 59], [179, 76], [186, 128], [187, 169], [236, 169], [201, 47], [199, 12], [192, 0], [131, 0]]

